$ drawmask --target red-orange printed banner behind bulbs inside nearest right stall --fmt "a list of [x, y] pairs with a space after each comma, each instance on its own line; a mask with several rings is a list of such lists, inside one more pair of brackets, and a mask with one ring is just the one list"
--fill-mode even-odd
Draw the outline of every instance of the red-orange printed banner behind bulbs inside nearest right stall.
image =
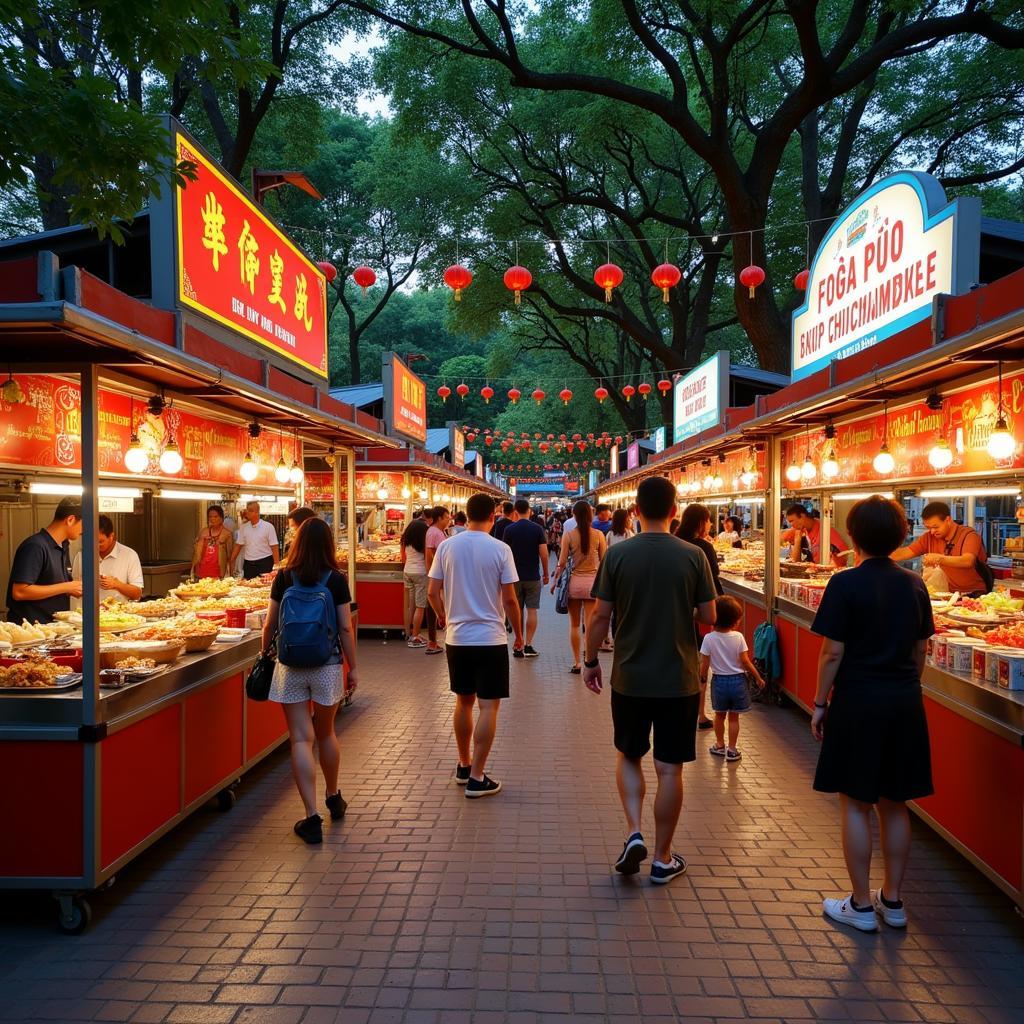
[[[994, 380], [974, 384], [946, 395], [940, 411], [915, 402], [889, 411], [889, 451], [896, 468], [886, 476], [874, 470], [874, 457], [886, 438], [885, 413], [837, 425], [836, 458], [840, 472], [831, 484], [885, 483], [893, 479], [929, 479], [965, 473], [998, 473], [1024, 469], [1024, 373], [1008, 374], [1002, 378], [1002, 407], [1007, 425], [1018, 438], [1011, 459], [995, 462], [988, 454], [988, 438], [998, 419], [998, 387]], [[939, 472], [928, 461], [928, 453], [945, 439], [952, 451], [953, 461]], [[783, 468], [794, 463], [802, 465], [807, 453], [818, 467], [829, 442], [824, 431], [813, 432], [809, 442], [804, 436], [782, 443]], [[817, 481], [820, 481], [820, 470]], [[816, 482], [817, 482], [816, 481]]]

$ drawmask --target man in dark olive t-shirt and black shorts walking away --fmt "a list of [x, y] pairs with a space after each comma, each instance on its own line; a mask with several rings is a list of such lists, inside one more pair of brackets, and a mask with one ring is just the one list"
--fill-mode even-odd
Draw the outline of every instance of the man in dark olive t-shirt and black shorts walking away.
[[676, 488], [664, 476], [637, 488], [642, 531], [609, 548], [594, 583], [597, 608], [587, 627], [584, 682], [603, 687], [597, 650], [616, 614], [611, 666], [611, 718], [618, 752], [618, 793], [629, 835], [615, 870], [636, 874], [647, 857], [640, 833], [643, 758], [654, 732], [654, 862], [651, 882], [664, 885], [686, 870], [672, 851], [683, 807], [683, 764], [696, 759], [700, 678], [694, 611], [715, 623], [715, 585], [703, 552], [669, 532]]

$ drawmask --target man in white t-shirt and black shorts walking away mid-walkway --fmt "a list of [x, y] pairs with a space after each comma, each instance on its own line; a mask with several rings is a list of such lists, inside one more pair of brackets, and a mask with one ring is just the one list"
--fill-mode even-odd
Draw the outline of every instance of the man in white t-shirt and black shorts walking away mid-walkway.
[[[445, 653], [449, 679], [456, 694], [453, 725], [459, 748], [455, 780], [466, 796], [489, 797], [502, 784], [484, 772], [495, 741], [498, 709], [509, 695], [509, 649], [506, 618], [516, 647], [522, 647], [522, 621], [515, 584], [512, 549], [489, 536], [495, 503], [473, 495], [466, 503], [466, 531], [437, 548], [427, 575], [427, 597], [439, 625], [447, 624]], [[473, 728], [473, 705], [480, 713]], [[470, 754], [472, 740], [472, 755]]]

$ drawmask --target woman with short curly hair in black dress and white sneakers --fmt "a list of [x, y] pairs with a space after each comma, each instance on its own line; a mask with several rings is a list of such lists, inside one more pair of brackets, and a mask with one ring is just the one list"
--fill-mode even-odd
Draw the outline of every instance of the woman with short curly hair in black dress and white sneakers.
[[[858, 564], [828, 582], [811, 627], [824, 638], [811, 719], [811, 732], [821, 740], [814, 788], [840, 795], [853, 890], [826, 899], [824, 912], [873, 932], [880, 916], [892, 928], [906, 927], [906, 801], [933, 792], [921, 673], [935, 629], [921, 577], [890, 558], [906, 537], [902, 507], [878, 495], [866, 498], [850, 510], [847, 529]], [[880, 889], [870, 888], [872, 809], [885, 864]]]

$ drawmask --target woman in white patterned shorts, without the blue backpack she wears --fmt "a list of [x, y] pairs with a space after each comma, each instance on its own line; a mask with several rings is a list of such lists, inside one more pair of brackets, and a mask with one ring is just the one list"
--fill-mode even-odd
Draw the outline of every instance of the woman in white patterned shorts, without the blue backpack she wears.
[[[338, 571], [334, 553], [334, 535], [323, 519], [307, 519], [295, 535], [288, 563], [273, 581], [270, 606], [263, 626], [263, 650], [269, 650], [278, 637], [281, 602], [292, 584], [316, 586], [326, 578], [337, 615], [338, 641], [348, 665], [348, 689], [355, 689], [355, 644], [352, 639], [351, 595], [348, 581]], [[324, 841], [324, 819], [316, 812], [315, 740], [321, 770], [327, 783], [327, 809], [333, 821], [345, 816], [346, 803], [338, 788], [341, 749], [334, 731], [334, 717], [344, 695], [345, 683], [341, 657], [334, 651], [325, 665], [313, 668], [274, 667], [270, 699], [284, 706], [288, 734], [292, 742], [292, 775], [305, 808], [306, 816], [295, 822], [295, 834], [305, 843]], [[309, 701], [312, 700], [312, 715]]]

